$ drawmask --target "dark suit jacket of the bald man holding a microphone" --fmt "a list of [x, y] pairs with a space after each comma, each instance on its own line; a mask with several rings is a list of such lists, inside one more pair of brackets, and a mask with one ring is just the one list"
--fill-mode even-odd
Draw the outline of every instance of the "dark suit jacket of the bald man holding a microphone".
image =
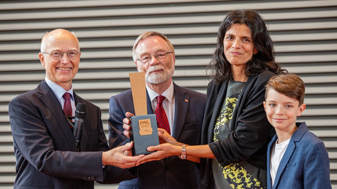
[[[102, 151], [109, 150], [100, 109], [77, 96], [75, 104], [87, 104], [78, 152], [72, 131], [52, 89], [42, 81], [36, 89], [9, 103], [10, 126], [17, 159], [14, 188], [93, 188], [114, 180], [124, 169], [102, 167]], [[89, 152], [90, 151], [90, 152]], [[106, 172], [108, 171], [108, 172]], [[106, 173], [106, 174], [105, 174]], [[116, 173], [116, 175], [115, 175]], [[127, 172], [126, 172], [127, 173]]]

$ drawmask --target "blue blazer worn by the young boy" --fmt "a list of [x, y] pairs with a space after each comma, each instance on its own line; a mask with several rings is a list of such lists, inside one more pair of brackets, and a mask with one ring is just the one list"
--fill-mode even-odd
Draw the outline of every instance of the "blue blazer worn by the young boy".
[[281, 159], [273, 187], [270, 153], [277, 135], [268, 144], [267, 188], [331, 188], [329, 157], [324, 143], [308, 130], [305, 122], [296, 123], [296, 126], [298, 129]]

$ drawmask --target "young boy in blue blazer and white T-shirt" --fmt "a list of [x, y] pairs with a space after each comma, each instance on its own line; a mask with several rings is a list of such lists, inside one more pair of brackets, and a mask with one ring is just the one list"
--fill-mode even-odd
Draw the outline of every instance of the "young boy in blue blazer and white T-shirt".
[[263, 102], [276, 135], [268, 145], [267, 188], [331, 188], [324, 143], [296, 118], [305, 109], [304, 83], [294, 74], [272, 77]]

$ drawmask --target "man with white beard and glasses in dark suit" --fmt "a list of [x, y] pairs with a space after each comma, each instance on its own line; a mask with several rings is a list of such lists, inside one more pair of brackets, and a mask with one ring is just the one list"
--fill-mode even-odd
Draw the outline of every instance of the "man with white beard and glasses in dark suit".
[[[161, 33], [145, 32], [136, 39], [132, 57], [137, 70], [146, 72], [148, 114], [161, 112], [163, 122], [167, 125], [158, 127], [164, 128], [178, 142], [200, 144], [206, 95], [180, 87], [172, 81], [176, 61], [171, 42]], [[110, 98], [110, 148], [129, 141], [129, 128], [123, 128], [123, 119], [131, 116], [131, 113], [134, 114], [131, 89]], [[198, 165], [186, 160], [184, 156], [147, 162], [134, 169], [137, 177], [121, 182], [119, 189], [179, 189], [199, 186]]]

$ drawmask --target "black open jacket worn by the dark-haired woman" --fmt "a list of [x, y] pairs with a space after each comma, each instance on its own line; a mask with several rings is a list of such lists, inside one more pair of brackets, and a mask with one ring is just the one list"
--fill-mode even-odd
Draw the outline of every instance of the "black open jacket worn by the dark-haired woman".
[[[208, 84], [201, 144], [209, 144], [222, 166], [247, 161], [267, 170], [267, 145], [274, 132], [267, 120], [263, 101], [265, 101], [265, 84], [273, 75], [275, 74], [270, 71], [262, 71], [255, 77], [248, 77], [238, 99], [239, 107], [233, 112], [232, 133], [226, 139], [217, 142], [213, 141], [213, 130], [226, 96], [228, 83], [219, 84], [212, 80]], [[266, 178], [264, 181], [267, 183]], [[201, 158], [200, 185], [201, 188], [214, 188], [211, 159]]]

